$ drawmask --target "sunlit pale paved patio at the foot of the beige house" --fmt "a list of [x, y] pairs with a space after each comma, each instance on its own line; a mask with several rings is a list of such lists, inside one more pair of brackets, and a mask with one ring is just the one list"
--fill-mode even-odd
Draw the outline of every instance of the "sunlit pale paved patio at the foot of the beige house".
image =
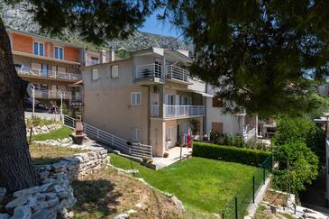
[[[180, 160], [180, 147], [174, 147], [166, 151], [169, 153], [168, 158], [158, 158], [153, 157], [153, 164], [157, 165], [157, 169], [162, 169], [168, 167], [169, 165], [176, 163]], [[187, 147], [182, 148], [182, 159], [187, 158], [192, 154], [192, 149], [187, 149]]]

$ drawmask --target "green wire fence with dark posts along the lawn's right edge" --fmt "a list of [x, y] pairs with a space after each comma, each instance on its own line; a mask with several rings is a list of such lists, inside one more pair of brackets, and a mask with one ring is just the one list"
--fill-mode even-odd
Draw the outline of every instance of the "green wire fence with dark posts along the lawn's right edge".
[[270, 174], [272, 167], [272, 157], [269, 156], [262, 162], [245, 183], [242, 189], [235, 194], [233, 199], [224, 207], [222, 218], [243, 218], [248, 205], [255, 201], [255, 196], [261, 185], [265, 184], [267, 176]]

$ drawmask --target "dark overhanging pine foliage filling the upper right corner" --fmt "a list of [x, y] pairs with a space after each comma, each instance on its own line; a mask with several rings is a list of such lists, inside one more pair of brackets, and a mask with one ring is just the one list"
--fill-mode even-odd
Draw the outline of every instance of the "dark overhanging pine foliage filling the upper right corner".
[[162, 17], [195, 44], [191, 74], [221, 87], [225, 108], [264, 117], [312, 109], [313, 79], [329, 74], [328, 1], [165, 2]]

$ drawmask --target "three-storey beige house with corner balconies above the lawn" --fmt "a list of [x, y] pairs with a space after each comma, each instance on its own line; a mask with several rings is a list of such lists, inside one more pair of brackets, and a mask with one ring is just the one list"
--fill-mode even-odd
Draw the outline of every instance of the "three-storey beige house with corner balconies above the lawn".
[[152, 146], [162, 157], [183, 136], [191, 134], [191, 119], [206, 115], [206, 84], [190, 78], [192, 59], [178, 50], [151, 48], [129, 59], [83, 69], [84, 120], [127, 141]]

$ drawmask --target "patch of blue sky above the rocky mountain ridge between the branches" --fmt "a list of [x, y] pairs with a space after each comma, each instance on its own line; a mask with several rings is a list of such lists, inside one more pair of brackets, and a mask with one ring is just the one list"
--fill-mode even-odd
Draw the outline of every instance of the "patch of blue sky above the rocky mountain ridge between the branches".
[[140, 28], [139, 31], [178, 37], [180, 35], [179, 32], [174, 27], [171, 27], [168, 22], [163, 23], [162, 21], [158, 21], [157, 14], [159, 14], [159, 11], [146, 18], [146, 21], [143, 24], [144, 26]]

